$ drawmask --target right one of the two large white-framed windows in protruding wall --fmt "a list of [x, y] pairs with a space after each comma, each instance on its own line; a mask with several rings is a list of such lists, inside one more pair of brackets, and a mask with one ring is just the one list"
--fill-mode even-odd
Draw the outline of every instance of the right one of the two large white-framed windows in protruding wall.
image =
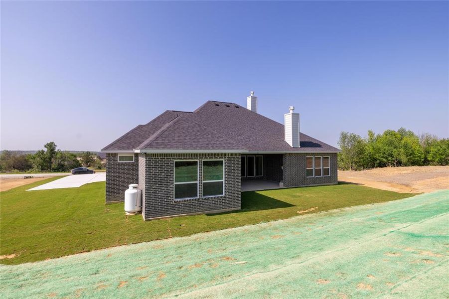
[[224, 195], [224, 160], [203, 160], [203, 197]]

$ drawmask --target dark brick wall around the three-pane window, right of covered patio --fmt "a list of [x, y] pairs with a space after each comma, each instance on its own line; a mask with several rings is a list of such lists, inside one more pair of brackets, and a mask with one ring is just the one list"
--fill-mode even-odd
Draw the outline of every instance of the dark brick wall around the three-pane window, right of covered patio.
[[[306, 177], [305, 157], [329, 156], [330, 176]], [[337, 154], [336, 153], [285, 153], [284, 154], [284, 186], [309, 186], [337, 183]]]

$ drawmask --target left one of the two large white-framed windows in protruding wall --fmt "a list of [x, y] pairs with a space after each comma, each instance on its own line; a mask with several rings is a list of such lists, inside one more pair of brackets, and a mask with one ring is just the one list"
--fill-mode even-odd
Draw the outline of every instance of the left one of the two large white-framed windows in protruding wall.
[[174, 199], [198, 197], [198, 161], [174, 161]]

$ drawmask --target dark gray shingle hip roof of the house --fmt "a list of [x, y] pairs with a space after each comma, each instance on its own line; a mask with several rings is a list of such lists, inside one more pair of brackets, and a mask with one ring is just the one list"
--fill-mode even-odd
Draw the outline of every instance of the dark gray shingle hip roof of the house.
[[208, 101], [194, 112], [165, 111], [102, 151], [238, 150], [250, 152], [336, 152], [300, 133], [300, 148], [284, 140], [284, 125], [234, 103]]

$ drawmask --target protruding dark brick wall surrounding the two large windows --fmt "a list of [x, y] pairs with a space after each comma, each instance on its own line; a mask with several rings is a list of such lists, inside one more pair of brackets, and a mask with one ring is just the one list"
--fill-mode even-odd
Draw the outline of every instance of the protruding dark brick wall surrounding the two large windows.
[[[225, 195], [202, 198], [202, 159], [224, 159]], [[199, 160], [199, 198], [174, 200], [174, 160]], [[144, 219], [241, 208], [240, 154], [168, 154], [145, 156]]]

